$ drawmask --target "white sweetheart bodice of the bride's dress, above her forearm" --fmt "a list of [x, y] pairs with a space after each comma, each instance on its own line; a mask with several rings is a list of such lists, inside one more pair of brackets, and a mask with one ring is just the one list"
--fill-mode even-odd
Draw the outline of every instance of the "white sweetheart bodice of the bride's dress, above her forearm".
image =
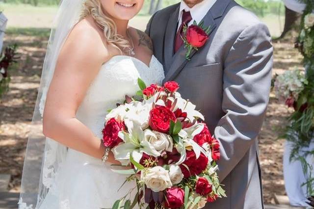
[[123, 103], [125, 95], [134, 96], [139, 90], [137, 78], [147, 85], [161, 84], [164, 72], [154, 55], [149, 66], [131, 56], [113, 56], [91, 83], [78, 108], [77, 118], [101, 137], [107, 111], [115, 108], [117, 103]]

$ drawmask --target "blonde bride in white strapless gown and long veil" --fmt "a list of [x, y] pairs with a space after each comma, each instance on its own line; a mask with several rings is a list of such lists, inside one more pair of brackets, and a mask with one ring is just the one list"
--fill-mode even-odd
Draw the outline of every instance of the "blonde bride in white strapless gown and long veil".
[[[119, 162], [101, 139], [107, 110], [138, 90], [137, 78], [146, 84], [164, 78], [150, 38], [128, 26], [143, 1], [61, 2], [29, 134], [19, 209], [111, 208], [125, 194], [118, 189], [126, 176], [110, 170]], [[134, 186], [126, 183], [123, 190]]]

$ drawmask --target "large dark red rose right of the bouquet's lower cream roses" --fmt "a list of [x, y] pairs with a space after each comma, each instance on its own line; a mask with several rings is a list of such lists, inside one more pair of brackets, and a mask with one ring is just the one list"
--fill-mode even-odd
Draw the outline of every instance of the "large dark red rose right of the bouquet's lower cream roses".
[[[183, 165], [185, 164], [190, 172]], [[201, 153], [200, 157], [196, 159], [194, 151], [186, 151], [186, 158], [184, 162], [180, 165], [181, 171], [184, 178], [188, 178], [193, 175], [199, 175], [204, 171], [208, 164], [208, 158]]]

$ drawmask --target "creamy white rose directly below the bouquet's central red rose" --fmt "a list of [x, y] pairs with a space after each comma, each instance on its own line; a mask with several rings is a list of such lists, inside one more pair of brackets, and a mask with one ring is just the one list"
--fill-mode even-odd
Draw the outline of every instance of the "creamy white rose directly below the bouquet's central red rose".
[[163, 151], [172, 152], [173, 141], [168, 134], [147, 129], [144, 131], [144, 135], [145, 140], [148, 141], [159, 153], [162, 153]]

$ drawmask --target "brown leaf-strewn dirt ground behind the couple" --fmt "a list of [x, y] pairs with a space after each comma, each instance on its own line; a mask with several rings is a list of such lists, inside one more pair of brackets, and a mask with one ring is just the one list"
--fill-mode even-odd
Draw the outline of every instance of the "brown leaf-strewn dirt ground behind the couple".
[[[11, 71], [9, 92], [0, 99], [0, 173], [12, 175], [12, 191], [18, 191], [20, 186], [28, 127], [36, 100], [48, 35], [47, 29], [17, 30], [9, 32], [5, 40], [6, 44], [18, 43], [19, 53], [22, 55], [19, 64]], [[291, 40], [293, 39], [274, 43], [274, 73], [291, 70], [295, 65], [301, 67], [301, 56], [293, 49]], [[277, 140], [277, 127], [283, 126], [287, 117], [287, 108], [278, 104], [272, 93], [259, 136], [266, 203], [273, 202], [274, 193], [285, 194], [282, 172], [284, 140]]]

